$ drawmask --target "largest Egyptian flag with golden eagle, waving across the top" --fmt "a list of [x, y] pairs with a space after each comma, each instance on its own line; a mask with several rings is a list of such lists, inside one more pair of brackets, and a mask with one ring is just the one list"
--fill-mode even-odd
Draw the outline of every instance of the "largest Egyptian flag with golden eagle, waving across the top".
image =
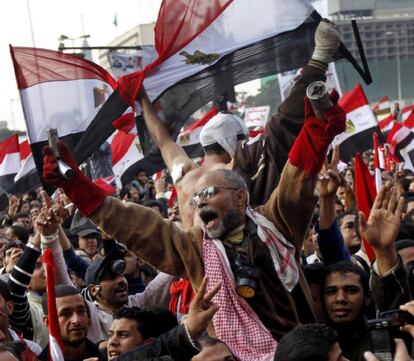
[[[159, 100], [176, 139], [196, 110], [225, 92], [231, 98], [234, 85], [306, 65], [320, 20], [305, 0], [164, 0], [155, 26], [157, 59], [118, 80], [101, 110], [107, 116], [94, 120], [99, 133], [91, 128], [76, 150], [88, 154], [91, 137], [108, 138], [113, 120], [134, 105], [142, 84], [151, 101]], [[369, 81], [343, 45], [338, 58], [350, 60]], [[114, 104], [118, 112], [110, 111]], [[148, 149], [157, 151], [153, 144]]]

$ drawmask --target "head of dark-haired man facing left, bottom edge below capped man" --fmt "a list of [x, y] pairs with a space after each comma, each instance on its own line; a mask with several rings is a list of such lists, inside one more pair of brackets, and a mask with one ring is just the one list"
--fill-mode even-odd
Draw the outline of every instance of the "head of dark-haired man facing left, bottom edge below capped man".
[[113, 315], [107, 346], [108, 360], [121, 353], [154, 341], [177, 326], [174, 315], [166, 308], [124, 307]]

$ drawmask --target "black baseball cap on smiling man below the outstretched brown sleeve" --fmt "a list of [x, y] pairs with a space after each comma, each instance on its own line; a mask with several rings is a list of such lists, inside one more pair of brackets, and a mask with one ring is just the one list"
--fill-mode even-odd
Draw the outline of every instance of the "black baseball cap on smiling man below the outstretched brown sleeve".
[[108, 252], [105, 258], [93, 261], [86, 270], [86, 286], [99, 284], [102, 274], [108, 267], [112, 267], [114, 275], [122, 274], [125, 270], [124, 253], [114, 249]]

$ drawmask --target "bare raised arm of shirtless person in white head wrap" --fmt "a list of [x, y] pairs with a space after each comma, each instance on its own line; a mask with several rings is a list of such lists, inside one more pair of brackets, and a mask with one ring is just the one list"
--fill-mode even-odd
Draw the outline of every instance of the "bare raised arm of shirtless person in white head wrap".
[[170, 173], [176, 164], [183, 164], [184, 173], [193, 168], [197, 168], [190, 157], [184, 152], [183, 148], [171, 138], [167, 127], [155, 112], [145, 90], [141, 90], [140, 102], [144, 113], [145, 124], [152, 139], [154, 139], [155, 144], [160, 149], [162, 158]]

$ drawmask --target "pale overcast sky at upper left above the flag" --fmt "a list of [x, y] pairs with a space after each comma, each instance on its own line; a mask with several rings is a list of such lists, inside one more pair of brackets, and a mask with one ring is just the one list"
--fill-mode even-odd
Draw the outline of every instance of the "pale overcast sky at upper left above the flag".
[[[12, 0], [4, 2], [0, 14], [0, 120], [25, 129], [19, 93], [9, 53], [13, 46], [35, 46], [57, 50], [58, 38], [83, 35], [82, 15], [91, 46], [102, 46], [116, 36], [142, 23], [156, 21], [161, 0]], [[6, 5], [7, 4], [7, 5]], [[30, 6], [34, 44], [30, 30]], [[118, 28], [113, 25], [117, 13]], [[67, 46], [71, 43], [68, 42]], [[78, 41], [77, 46], [80, 45]]]

